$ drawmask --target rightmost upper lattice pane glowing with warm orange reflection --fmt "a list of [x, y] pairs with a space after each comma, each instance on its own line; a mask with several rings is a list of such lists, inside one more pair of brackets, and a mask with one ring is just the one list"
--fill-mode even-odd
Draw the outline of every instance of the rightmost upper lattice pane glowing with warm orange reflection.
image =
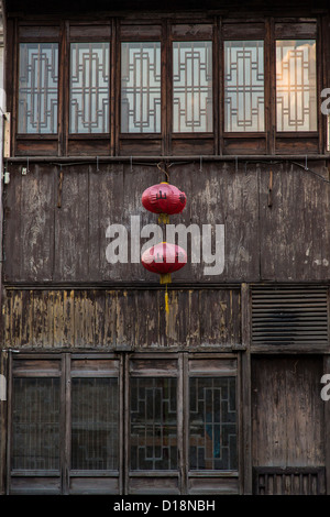
[[276, 42], [277, 131], [316, 131], [316, 42]]

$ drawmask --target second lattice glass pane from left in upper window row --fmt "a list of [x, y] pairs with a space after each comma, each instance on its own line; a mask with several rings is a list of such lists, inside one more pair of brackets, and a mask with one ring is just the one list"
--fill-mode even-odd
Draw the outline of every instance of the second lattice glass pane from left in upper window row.
[[109, 131], [109, 43], [70, 45], [70, 133]]

